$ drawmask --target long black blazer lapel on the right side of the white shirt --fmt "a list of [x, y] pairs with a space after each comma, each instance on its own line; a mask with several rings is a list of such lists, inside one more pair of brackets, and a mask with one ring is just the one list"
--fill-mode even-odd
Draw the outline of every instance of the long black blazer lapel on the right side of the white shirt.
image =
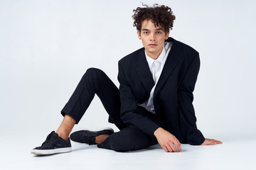
[[[167, 41], [169, 41], [172, 38], [169, 38]], [[169, 55], [166, 59], [166, 62], [164, 64], [163, 71], [161, 72], [161, 76], [159, 78], [158, 83], [156, 84], [156, 89], [154, 90], [154, 96], [159, 92], [162, 86], [164, 86], [166, 80], [169, 78], [169, 75], [174, 71], [174, 68], [178, 64], [178, 62], [181, 60], [181, 47], [176, 43], [176, 40], [172, 39], [174, 42], [171, 51], [169, 52]]]

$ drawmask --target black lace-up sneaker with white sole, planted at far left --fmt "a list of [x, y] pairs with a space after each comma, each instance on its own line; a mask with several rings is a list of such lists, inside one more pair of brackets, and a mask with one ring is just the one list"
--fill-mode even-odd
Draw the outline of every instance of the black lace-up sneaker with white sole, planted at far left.
[[53, 131], [46, 137], [46, 141], [43, 142], [41, 147], [32, 149], [31, 154], [58, 154], [71, 151], [70, 138], [63, 140]]

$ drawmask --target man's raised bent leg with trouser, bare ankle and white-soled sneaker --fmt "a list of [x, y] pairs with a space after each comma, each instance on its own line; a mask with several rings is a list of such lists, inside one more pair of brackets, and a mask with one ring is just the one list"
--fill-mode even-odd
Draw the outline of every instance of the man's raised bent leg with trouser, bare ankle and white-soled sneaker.
[[33, 149], [32, 153], [55, 154], [70, 152], [71, 145], [70, 139], [68, 138], [70, 131], [73, 129], [75, 123], [77, 124], [80, 121], [95, 94], [100, 97], [107, 112], [117, 125], [117, 128], [124, 128], [125, 125], [119, 118], [119, 90], [100, 69], [87, 69], [87, 72], [85, 72], [73, 95], [70, 97], [70, 100], [61, 111], [65, 117], [56, 131], [57, 133], [51, 132], [46, 138], [46, 141], [43, 142], [43, 145]]

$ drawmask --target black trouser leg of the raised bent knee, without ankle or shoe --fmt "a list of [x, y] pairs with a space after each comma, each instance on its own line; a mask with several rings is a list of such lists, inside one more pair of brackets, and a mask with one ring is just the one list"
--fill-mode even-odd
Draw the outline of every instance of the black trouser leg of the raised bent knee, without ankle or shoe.
[[97, 94], [100, 101], [102, 101], [105, 110], [110, 115], [110, 118], [112, 118], [117, 128], [120, 130], [125, 128], [119, 114], [119, 89], [100, 69], [87, 69], [87, 72], [83, 75], [73, 95], [70, 97], [61, 113], [63, 115], [68, 113], [75, 119], [76, 123], [79, 123], [82, 115], [84, 115], [85, 111], [90, 106], [95, 94]]

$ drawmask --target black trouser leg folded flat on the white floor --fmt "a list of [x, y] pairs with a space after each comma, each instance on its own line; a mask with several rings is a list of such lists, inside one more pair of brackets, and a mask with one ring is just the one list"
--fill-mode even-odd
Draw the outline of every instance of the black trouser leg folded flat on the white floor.
[[110, 137], [97, 145], [104, 149], [112, 149], [118, 152], [144, 149], [157, 144], [157, 140], [145, 135], [137, 128], [124, 128], [119, 132], [114, 132]]

